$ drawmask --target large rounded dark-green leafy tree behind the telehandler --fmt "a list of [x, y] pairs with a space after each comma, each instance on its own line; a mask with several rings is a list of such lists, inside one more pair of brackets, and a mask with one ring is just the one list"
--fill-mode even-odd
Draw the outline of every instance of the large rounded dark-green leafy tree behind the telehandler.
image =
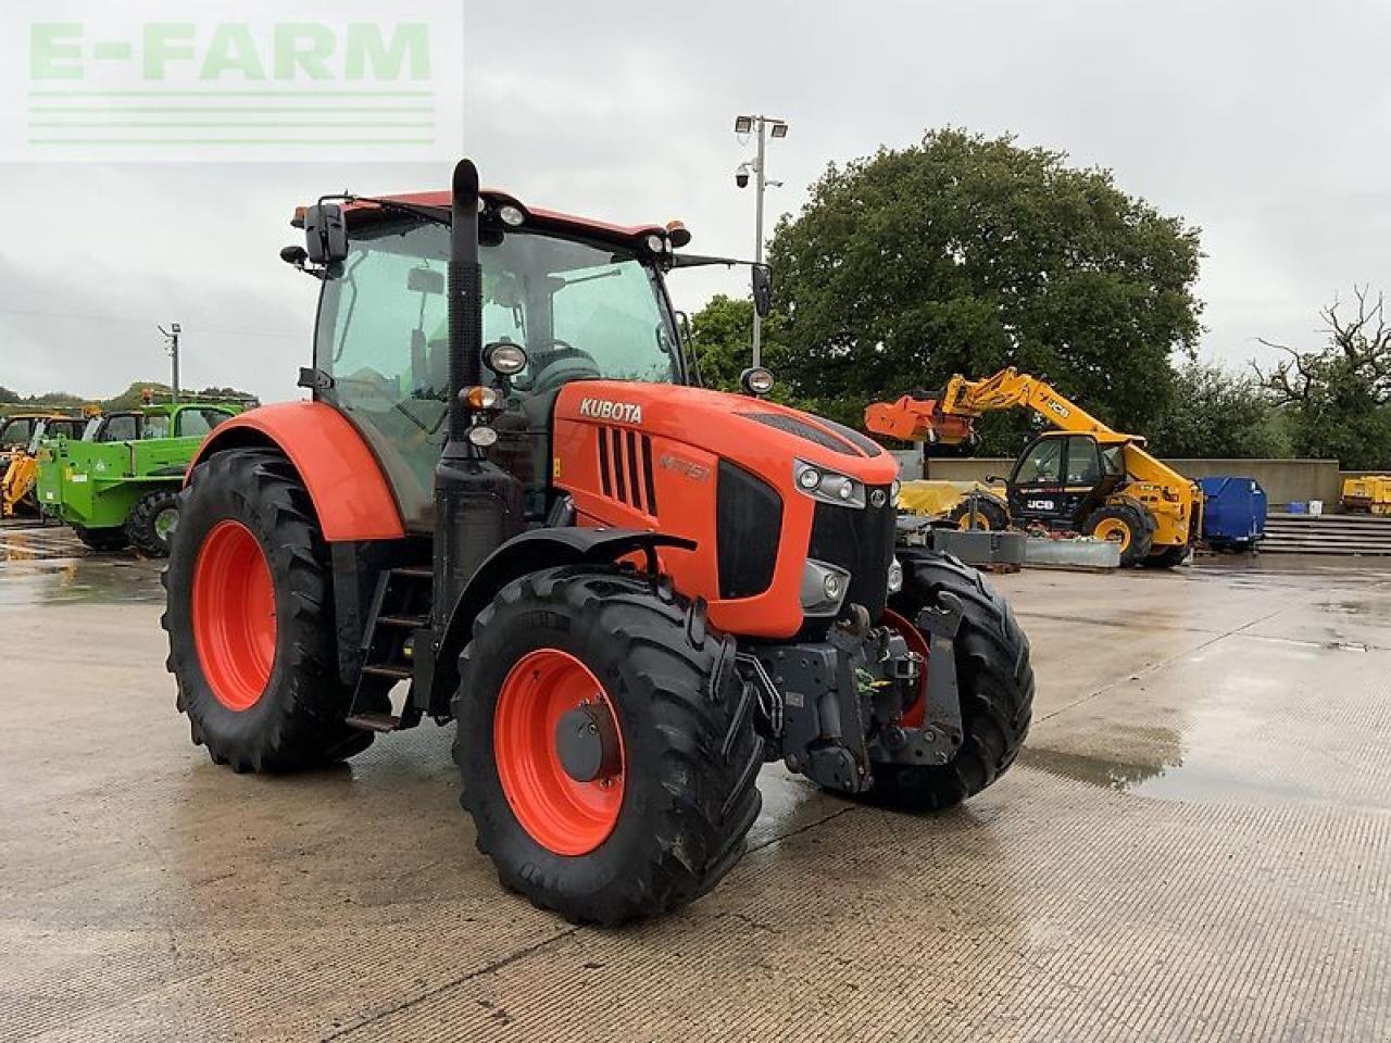
[[[946, 129], [832, 164], [771, 246], [791, 395], [858, 424], [867, 402], [1015, 364], [1146, 430], [1200, 331], [1198, 229], [1066, 160]], [[995, 426], [1010, 451], [1020, 424]]]

